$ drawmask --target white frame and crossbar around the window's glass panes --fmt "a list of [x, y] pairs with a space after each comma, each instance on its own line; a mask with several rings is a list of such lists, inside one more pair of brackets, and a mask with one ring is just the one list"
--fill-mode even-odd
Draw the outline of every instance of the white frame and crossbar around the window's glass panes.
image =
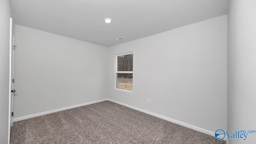
[[[128, 74], [133, 74], [133, 71], [117, 71], [117, 58], [118, 56], [123, 56], [123, 55], [128, 55], [128, 54], [133, 54], [133, 52], [127, 52], [127, 53], [123, 53], [123, 54], [116, 54], [116, 66], [115, 66], [115, 90], [120, 90], [120, 91], [124, 91], [124, 92], [132, 92], [133, 91], [133, 80], [132, 80], [132, 90], [124, 90], [124, 89], [120, 89], [117, 88], [117, 73], [128, 73]], [[134, 55], [134, 54], [133, 54]], [[132, 63], [133, 65], [133, 63]], [[133, 67], [133, 66], [132, 66]]]

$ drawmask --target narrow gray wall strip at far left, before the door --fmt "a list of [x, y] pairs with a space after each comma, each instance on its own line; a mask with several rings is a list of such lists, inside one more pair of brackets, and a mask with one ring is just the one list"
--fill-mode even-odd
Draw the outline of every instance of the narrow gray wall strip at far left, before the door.
[[0, 1], [0, 144], [8, 142], [10, 0]]

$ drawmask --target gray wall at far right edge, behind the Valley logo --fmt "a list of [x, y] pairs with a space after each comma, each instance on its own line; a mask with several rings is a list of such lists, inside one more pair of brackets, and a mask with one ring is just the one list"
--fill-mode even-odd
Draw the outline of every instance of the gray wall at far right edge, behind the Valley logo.
[[[256, 1], [230, 0], [228, 12], [228, 130], [256, 129]], [[256, 134], [229, 144], [256, 144]]]

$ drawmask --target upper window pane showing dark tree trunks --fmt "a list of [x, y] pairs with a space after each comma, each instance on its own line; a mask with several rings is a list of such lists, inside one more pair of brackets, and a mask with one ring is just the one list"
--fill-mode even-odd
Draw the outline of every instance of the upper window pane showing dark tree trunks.
[[132, 71], [133, 54], [117, 56], [117, 71]]

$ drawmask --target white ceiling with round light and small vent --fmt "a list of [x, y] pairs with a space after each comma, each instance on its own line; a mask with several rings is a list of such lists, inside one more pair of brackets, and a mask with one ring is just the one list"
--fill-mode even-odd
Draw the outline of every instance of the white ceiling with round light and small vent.
[[[11, 0], [14, 23], [114, 46], [227, 14], [228, 0]], [[112, 18], [106, 24], [104, 18]], [[119, 37], [123, 40], [115, 40]]]

